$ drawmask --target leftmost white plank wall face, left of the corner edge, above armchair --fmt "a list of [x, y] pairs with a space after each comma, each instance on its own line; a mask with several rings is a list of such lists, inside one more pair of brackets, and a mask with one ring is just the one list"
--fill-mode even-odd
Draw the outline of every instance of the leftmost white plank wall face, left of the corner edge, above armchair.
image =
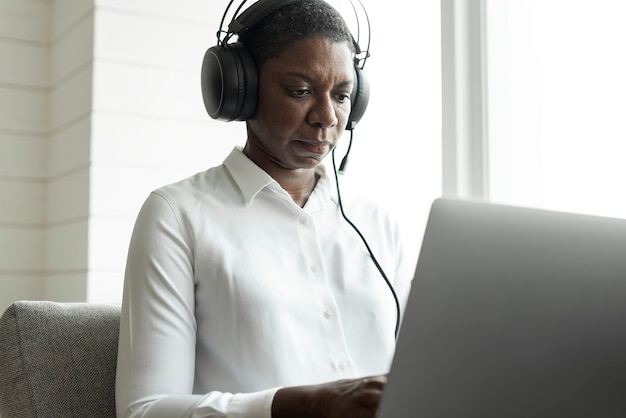
[[0, 3], [0, 304], [42, 296], [49, 4]]

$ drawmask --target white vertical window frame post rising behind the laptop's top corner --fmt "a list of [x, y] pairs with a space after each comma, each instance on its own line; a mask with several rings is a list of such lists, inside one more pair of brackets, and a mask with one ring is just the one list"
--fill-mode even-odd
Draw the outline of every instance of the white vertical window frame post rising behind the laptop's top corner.
[[444, 197], [489, 199], [485, 8], [441, 0]]

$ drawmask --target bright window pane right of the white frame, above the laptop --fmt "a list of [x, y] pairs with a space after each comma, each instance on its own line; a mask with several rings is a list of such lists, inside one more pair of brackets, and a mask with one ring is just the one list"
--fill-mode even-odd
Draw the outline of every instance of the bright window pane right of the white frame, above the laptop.
[[489, 199], [626, 218], [626, 2], [483, 6]]

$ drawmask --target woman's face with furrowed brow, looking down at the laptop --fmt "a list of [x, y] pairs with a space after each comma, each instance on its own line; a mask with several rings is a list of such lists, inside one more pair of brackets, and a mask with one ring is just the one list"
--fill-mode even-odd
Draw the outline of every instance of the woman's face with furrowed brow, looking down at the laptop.
[[322, 37], [296, 41], [268, 59], [248, 120], [248, 156], [267, 171], [315, 168], [344, 132], [353, 65], [347, 43]]

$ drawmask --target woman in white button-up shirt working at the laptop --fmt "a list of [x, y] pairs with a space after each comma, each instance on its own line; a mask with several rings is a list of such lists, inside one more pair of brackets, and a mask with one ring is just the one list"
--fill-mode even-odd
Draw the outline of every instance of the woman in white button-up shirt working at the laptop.
[[[118, 416], [373, 417], [395, 304], [321, 164], [351, 110], [350, 33], [305, 0], [240, 41], [259, 68], [245, 146], [154, 191], [137, 219]], [[406, 300], [414, 266], [397, 225], [368, 200], [345, 207]]]

